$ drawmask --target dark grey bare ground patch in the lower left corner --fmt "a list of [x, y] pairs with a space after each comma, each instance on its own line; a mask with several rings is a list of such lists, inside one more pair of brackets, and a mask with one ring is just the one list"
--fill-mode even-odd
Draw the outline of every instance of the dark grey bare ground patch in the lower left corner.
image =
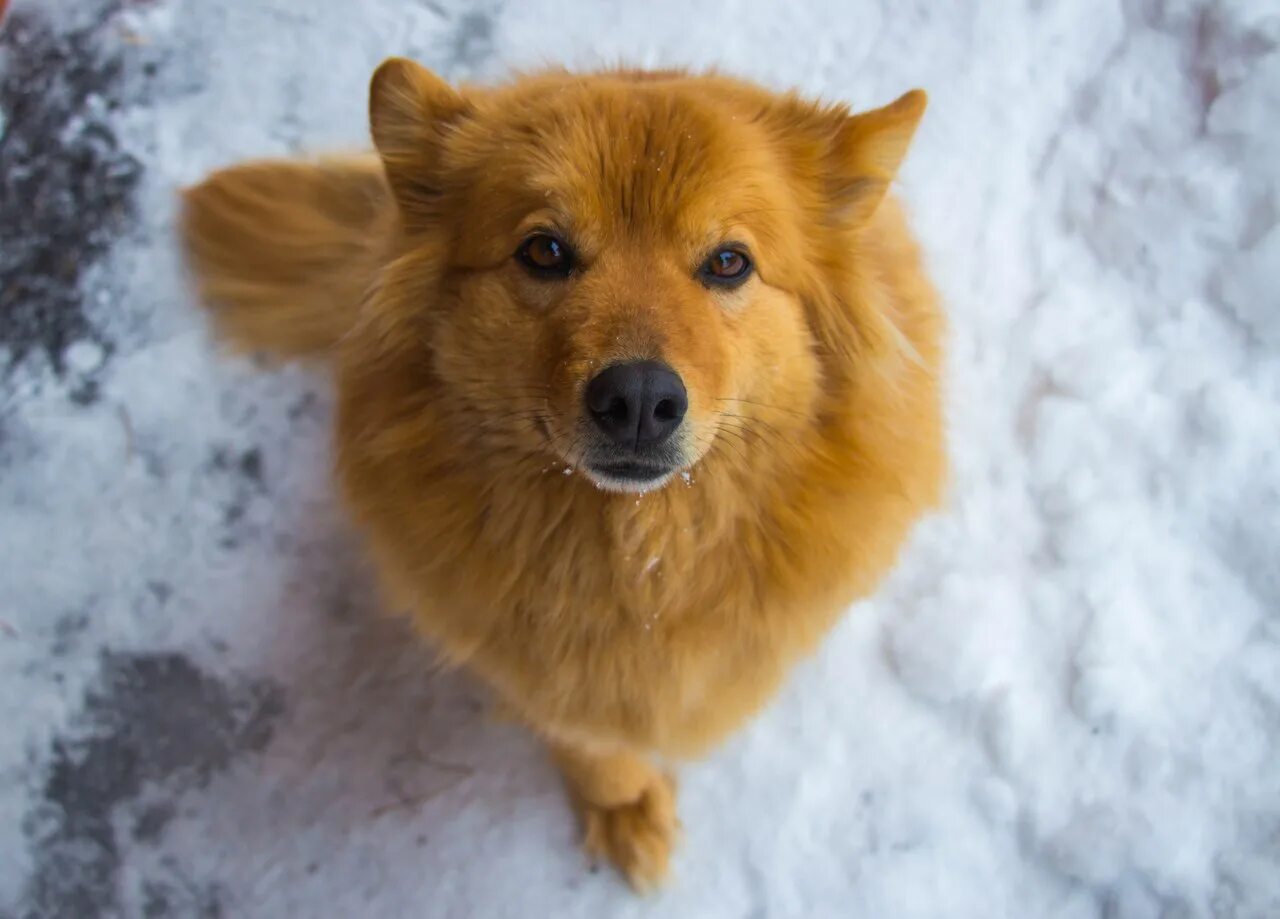
[[[152, 792], [132, 836], [157, 842], [172, 799], [262, 750], [282, 712], [283, 692], [265, 680], [220, 680], [180, 654], [104, 654], [74, 732], [52, 744], [44, 800], [24, 826], [36, 868], [20, 915], [119, 914], [128, 841], [118, 838], [115, 817]], [[160, 791], [169, 800], [157, 800]], [[146, 915], [220, 914], [216, 886], [165, 867], [164, 878], [143, 884]]]

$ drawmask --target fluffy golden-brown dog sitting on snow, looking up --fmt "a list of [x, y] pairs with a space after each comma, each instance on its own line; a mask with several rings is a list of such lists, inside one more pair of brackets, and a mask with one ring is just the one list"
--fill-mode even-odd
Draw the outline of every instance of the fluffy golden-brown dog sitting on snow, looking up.
[[668, 872], [675, 764], [941, 499], [945, 323], [888, 195], [924, 108], [390, 59], [372, 154], [184, 192], [218, 333], [332, 364], [390, 600], [545, 742], [637, 890]]

